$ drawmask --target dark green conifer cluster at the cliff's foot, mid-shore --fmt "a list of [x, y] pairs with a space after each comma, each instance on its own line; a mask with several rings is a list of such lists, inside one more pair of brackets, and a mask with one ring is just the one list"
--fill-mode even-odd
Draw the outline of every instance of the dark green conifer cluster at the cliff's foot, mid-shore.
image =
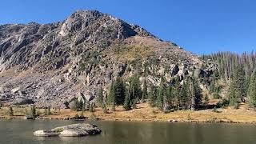
[[159, 86], [147, 84], [146, 79], [139, 81], [139, 75], [124, 81], [121, 77], [111, 83], [110, 93], [102, 103], [112, 107], [123, 106], [125, 110], [136, 108], [138, 102], [149, 102], [150, 106], [159, 110], [198, 110], [202, 106], [202, 90], [198, 80], [188, 77], [182, 82], [178, 79], [170, 85], [161, 82]]

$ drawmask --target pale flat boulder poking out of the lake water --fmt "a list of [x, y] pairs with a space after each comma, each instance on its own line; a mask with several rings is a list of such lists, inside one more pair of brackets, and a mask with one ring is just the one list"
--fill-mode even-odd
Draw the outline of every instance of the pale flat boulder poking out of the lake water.
[[38, 137], [82, 137], [86, 135], [100, 134], [101, 132], [102, 130], [95, 125], [79, 123], [69, 126], [56, 127], [52, 130], [37, 130], [34, 132], [34, 135]]

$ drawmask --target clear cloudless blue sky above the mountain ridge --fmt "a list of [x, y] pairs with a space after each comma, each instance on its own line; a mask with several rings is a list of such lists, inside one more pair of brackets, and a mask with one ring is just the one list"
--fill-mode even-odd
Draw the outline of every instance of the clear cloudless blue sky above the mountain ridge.
[[256, 50], [255, 0], [1, 0], [0, 24], [62, 21], [100, 10], [196, 54]]

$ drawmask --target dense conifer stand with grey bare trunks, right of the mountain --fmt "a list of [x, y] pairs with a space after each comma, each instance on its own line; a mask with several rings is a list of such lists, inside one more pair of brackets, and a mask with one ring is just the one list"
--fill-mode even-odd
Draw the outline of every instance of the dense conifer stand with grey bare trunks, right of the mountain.
[[[256, 107], [256, 53], [234, 54], [219, 52], [217, 54], [202, 55], [203, 60], [210, 60], [218, 64], [218, 75], [228, 86], [227, 101], [230, 106], [238, 108], [241, 102]], [[210, 91], [215, 91], [212, 82]], [[219, 90], [218, 90], [219, 91]]]

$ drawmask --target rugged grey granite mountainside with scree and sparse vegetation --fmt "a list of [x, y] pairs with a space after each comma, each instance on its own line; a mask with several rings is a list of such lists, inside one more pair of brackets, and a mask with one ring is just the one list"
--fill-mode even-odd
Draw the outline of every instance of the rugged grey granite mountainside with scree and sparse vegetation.
[[[199, 69], [198, 56], [163, 42], [140, 26], [96, 10], [78, 10], [63, 22], [0, 26], [0, 100], [62, 106], [94, 100], [110, 82], [146, 73], [150, 84], [171, 82]], [[146, 67], [146, 68], [145, 68]]]

